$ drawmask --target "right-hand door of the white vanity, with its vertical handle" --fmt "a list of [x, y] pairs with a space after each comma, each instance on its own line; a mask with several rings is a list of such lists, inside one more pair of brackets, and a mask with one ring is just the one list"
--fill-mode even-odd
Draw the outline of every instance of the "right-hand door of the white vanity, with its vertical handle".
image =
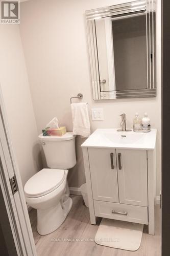
[[116, 150], [119, 201], [148, 206], [147, 151]]

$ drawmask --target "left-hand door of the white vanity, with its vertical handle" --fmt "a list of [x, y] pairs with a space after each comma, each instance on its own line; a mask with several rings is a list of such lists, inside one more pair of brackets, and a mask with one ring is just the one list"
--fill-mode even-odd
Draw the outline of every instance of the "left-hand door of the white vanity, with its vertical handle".
[[118, 203], [116, 152], [88, 148], [93, 199]]

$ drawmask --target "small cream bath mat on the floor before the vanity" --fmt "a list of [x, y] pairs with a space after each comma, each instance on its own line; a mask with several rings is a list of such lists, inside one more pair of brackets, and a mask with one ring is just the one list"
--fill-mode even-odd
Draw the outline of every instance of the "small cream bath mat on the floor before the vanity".
[[140, 247], [143, 224], [104, 219], [96, 232], [96, 244], [136, 251]]

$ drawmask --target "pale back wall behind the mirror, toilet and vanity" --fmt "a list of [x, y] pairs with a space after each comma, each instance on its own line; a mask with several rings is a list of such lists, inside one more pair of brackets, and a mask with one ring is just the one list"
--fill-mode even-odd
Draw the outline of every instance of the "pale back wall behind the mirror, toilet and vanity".
[[[124, 1], [129, 2], [129, 0]], [[89, 109], [103, 108], [104, 121], [91, 121], [96, 128], [119, 127], [122, 113], [132, 127], [135, 112], [148, 112], [157, 136], [157, 195], [160, 194], [160, 129], [161, 129], [161, 17], [157, 13], [157, 97], [94, 101], [90, 81], [85, 10], [123, 3], [118, 0], [34, 0], [21, 4], [20, 33], [37, 121], [38, 133], [57, 116], [60, 125], [72, 130], [70, 97], [83, 94]], [[76, 102], [76, 100], [75, 100]], [[91, 119], [91, 115], [90, 115]], [[83, 159], [77, 138], [78, 164], [70, 170], [70, 186], [85, 182]]]

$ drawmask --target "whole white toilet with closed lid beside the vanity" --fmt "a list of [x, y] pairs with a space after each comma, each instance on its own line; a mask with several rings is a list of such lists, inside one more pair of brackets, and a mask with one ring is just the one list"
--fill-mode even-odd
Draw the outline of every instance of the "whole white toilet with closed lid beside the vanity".
[[37, 231], [44, 235], [56, 230], [72, 207], [67, 184], [68, 169], [76, 164], [75, 136], [38, 136], [49, 169], [31, 177], [25, 187], [27, 203], [37, 209]]

